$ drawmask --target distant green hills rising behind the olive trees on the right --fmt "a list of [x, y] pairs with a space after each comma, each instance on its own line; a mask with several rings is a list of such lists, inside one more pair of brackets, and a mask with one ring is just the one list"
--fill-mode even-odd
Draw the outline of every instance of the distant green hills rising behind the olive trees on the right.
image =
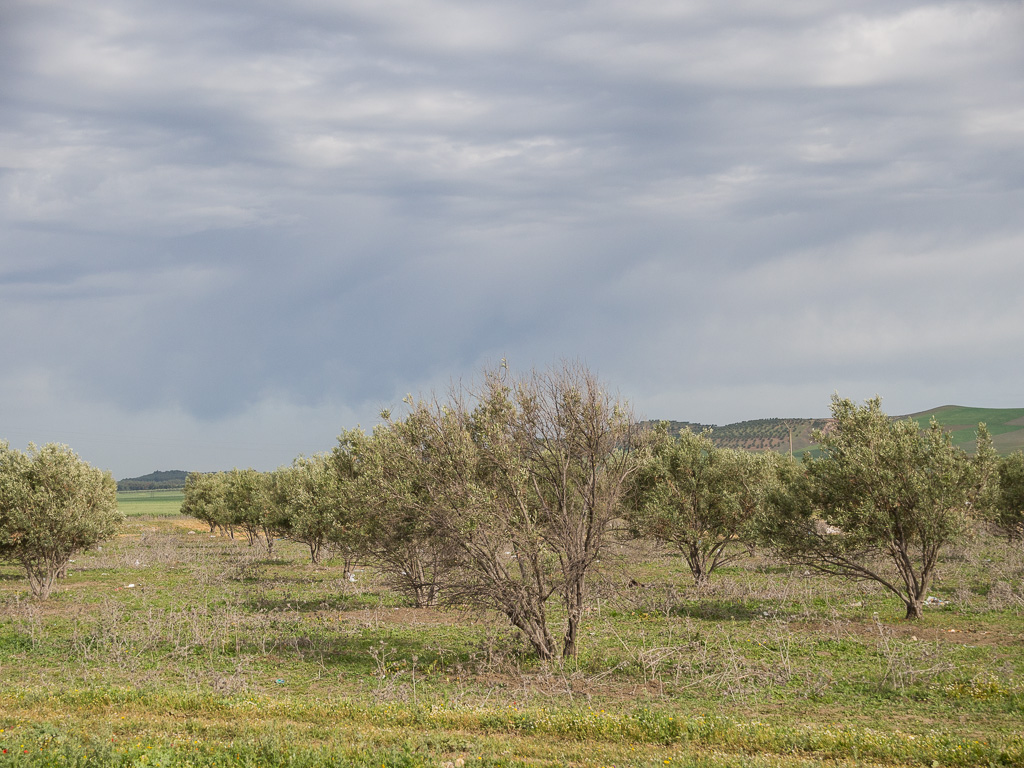
[[[984, 422], [992, 434], [995, 450], [1002, 456], [1024, 449], [1024, 408], [965, 408], [963, 406], [942, 406], [931, 411], [910, 414], [922, 429], [928, 427], [931, 418], [952, 433], [953, 443], [968, 453], [973, 453], [975, 430], [979, 422]], [[907, 416], [895, 417], [906, 419]], [[719, 447], [742, 449], [743, 451], [776, 451], [788, 453], [792, 434], [793, 453], [800, 456], [805, 451], [816, 453], [811, 433], [823, 429], [828, 419], [754, 419], [735, 424], [716, 426], [687, 421], [670, 421], [669, 431], [678, 434], [682, 429], [700, 432], [711, 429], [711, 439]], [[644, 424], [654, 425], [656, 421]]]

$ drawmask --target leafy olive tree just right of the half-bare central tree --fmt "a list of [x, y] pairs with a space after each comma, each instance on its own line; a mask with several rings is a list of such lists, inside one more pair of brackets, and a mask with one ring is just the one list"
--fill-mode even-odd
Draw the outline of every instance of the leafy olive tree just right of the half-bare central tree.
[[750, 546], [751, 521], [778, 461], [775, 454], [717, 447], [711, 430], [684, 429], [673, 438], [662, 425], [630, 484], [630, 528], [675, 547], [694, 583], [706, 585]]

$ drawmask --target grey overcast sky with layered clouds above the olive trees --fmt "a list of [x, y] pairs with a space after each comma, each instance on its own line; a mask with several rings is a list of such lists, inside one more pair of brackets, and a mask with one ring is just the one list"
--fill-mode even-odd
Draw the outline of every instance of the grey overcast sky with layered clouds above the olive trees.
[[0, 438], [119, 478], [502, 357], [1021, 407], [1022, 288], [1021, 2], [0, 2]]

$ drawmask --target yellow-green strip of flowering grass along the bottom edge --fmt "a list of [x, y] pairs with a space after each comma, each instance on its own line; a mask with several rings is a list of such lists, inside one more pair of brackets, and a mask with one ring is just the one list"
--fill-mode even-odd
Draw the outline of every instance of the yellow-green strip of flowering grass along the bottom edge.
[[[310, 705], [303, 698], [114, 695], [100, 707], [126, 711], [88, 734], [53, 725], [7, 742], [13, 765], [83, 757], [105, 765], [802, 765], [821, 761], [945, 766], [1020, 765], [1024, 740], [1006, 744], [953, 733], [880, 733], [842, 724], [785, 728], [722, 716], [649, 709], [452, 708]], [[122, 699], [119, 701], [118, 699]], [[78, 705], [80, 696], [62, 699]], [[94, 698], [85, 706], [95, 708]], [[119, 706], [120, 705], [120, 706]], [[25, 706], [31, 706], [26, 702]], [[81, 706], [81, 705], [78, 705]], [[146, 732], [146, 717], [184, 721], [175, 741]], [[239, 712], [245, 725], [228, 727]], [[161, 726], [164, 731], [168, 725]], [[141, 730], [141, 732], [139, 732]], [[382, 745], [380, 742], [390, 742]], [[16, 743], [16, 745], [15, 745]], [[758, 757], [752, 757], [752, 756]], [[50, 762], [47, 762], [50, 761]]]

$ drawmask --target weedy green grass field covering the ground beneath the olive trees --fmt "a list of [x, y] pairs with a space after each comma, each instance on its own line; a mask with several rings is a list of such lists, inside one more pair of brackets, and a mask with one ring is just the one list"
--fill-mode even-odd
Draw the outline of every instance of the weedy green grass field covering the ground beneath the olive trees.
[[697, 591], [624, 543], [579, 657], [540, 663], [372, 568], [129, 514], [48, 602], [0, 566], [0, 766], [1024, 766], [1024, 552], [992, 539], [916, 624], [761, 555]]

